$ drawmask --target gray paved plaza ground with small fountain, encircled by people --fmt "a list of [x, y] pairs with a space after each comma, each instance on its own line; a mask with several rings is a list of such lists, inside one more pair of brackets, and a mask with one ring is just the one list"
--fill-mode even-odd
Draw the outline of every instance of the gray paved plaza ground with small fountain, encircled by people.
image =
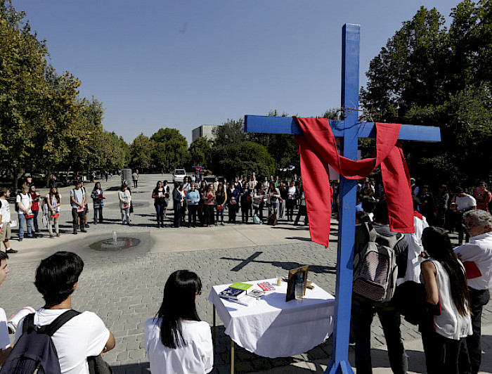
[[[172, 228], [173, 211], [167, 212], [168, 227], [157, 228], [151, 191], [157, 180], [171, 181], [171, 175], [143, 175], [138, 188], [132, 188], [134, 214], [131, 226], [122, 226], [117, 202], [117, 188], [121, 180], [102, 181], [105, 190], [104, 224], [93, 225], [87, 233], [72, 235], [70, 188], [60, 188], [63, 195], [60, 216], [60, 238], [48, 238], [41, 230], [41, 238], [16, 240], [11, 247], [19, 250], [8, 261], [11, 273], [1, 286], [0, 305], [8, 316], [27, 305], [35, 309], [44, 302], [34, 287], [34, 271], [39, 261], [58, 250], [70, 250], [84, 259], [85, 266], [77, 290], [72, 295], [72, 306], [79, 311], [98, 314], [116, 338], [116, 347], [104, 354], [115, 373], [150, 373], [145, 357], [143, 324], [157, 314], [162, 302], [162, 290], [167, 277], [178, 269], [198, 273], [203, 283], [198, 298], [198, 314], [212, 325], [212, 304], [207, 296], [213, 285], [273, 278], [287, 274], [301, 264], [309, 265], [309, 278], [328, 292], [335, 294], [335, 264], [337, 222], [332, 221], [330, 247], [311, 243], [306, 226], [294, 226], [280, 221], [278, 226], [225, 224], [211, 228]], [[86, 183], [92, 190], [93, 183]], [[41, 190], [43, 193], [46, 190]], [[171, 208], [171, 207], [170, 207]], [[89, 209], [92, 210], [91, 204]], [[13, 210], [13, 207], [12, 207]], [[15, 212], [13, 213], [16, 219]], [[251, 220], [250, 220], [251, 221]], [[39, 218], [41, 224], [41, 219]], [[116, 231], [121, 242], [133, 247], [122, 250], [108, 247]], [[455, 236], [453, 236], [454, 243]], [[219, 328], [215, 344], [212, 373], [229, 373], [230, 342], [217, 318]], [[486, 306], [484, 316], [484, 351], [492, 348], [492, 303]], [[405, 346], [410, 357], [409, 373], [425, 373], [424, 354], [417, 328], [403, 322]], [[379, 321], [373, 323], [373, 366], [375, 373], [391, 373], [384, 337]], [[353, 359], [353, 347], [351, 362]], [[240, 349], [236, 345], [236, 372], [244, 373], [323, 373], [331, 355], [331, 339], [298, 356], [265, 359]], [[483, 373], [492, 373], [492, 359], [484, 355]]]

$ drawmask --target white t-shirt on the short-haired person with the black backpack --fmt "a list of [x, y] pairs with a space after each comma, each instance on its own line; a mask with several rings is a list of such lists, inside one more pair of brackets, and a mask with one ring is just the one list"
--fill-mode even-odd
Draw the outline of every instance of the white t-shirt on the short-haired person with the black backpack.
[[[41, 308], [34, 315], [34, 325], [49, 325], [65, 311], [67, 310]], [[22, 335], [22, 323], [24, 319], [15, 332], [15, 342]], [[92, 311], [84, 311], [65, 323], [51, 338], [58, 352], [61, 373], [89, 374], [87, 356], [101, 354], [109, 338], [110, 330]]]

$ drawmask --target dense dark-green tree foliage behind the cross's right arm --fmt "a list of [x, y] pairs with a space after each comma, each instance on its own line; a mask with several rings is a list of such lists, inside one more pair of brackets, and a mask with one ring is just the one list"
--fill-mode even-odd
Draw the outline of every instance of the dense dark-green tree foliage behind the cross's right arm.
[[441, 143], [405, 144], [410, 173], [430, 183], [491, 179], [492, 2], [462, 1], [449, 29], [421, 7], [371, 61], [365, 120], [441, 128]]

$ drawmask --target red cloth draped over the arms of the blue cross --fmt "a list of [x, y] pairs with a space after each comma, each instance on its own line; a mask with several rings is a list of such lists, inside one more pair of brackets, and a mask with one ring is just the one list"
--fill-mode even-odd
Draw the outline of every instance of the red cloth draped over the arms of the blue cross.
[[338, 154], [335, 136], [327, 119], [294, 118], [304, 133], [295, 139], [301, 156], [302, 184], [313, 242], [325, 247], [329, 244], [331, 196], [328, 165], [346, 179], [361, 179], [381, 165], [391, 231], [415, 232], [410, 175], [398, 141], [400, 124], [376, 123], [375, 157], [350, 160]]

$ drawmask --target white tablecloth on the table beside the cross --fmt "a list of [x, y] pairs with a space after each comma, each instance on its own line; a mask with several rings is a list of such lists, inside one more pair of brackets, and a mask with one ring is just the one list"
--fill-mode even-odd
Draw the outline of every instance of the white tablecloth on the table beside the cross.
[[[245, 282], [255, 285], [274, 279]], [[219, 297], [228, 285], [216, 285], [209, 301], [224, 322], [226, 335], [250, 352], [276, 358], [302, 354], [324, 342], [333, 331], [335, 297], [314, 285], [306, 290], [302, 302], [285, 302], [287, 283], [275, 286], [276, 290], [245, 307]]]

